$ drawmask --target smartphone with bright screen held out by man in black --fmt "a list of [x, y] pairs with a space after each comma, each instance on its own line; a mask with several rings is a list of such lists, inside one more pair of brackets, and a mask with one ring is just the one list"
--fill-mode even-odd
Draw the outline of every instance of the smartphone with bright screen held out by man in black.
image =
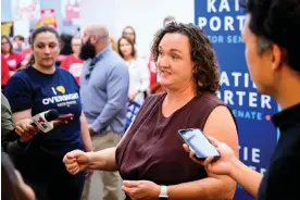
[[179, 129], [178, 135], [195, 151], [195, 157], [205, 160], [209, 157], [220, 158], [220, 153], [205, 135], [198, 128]]

